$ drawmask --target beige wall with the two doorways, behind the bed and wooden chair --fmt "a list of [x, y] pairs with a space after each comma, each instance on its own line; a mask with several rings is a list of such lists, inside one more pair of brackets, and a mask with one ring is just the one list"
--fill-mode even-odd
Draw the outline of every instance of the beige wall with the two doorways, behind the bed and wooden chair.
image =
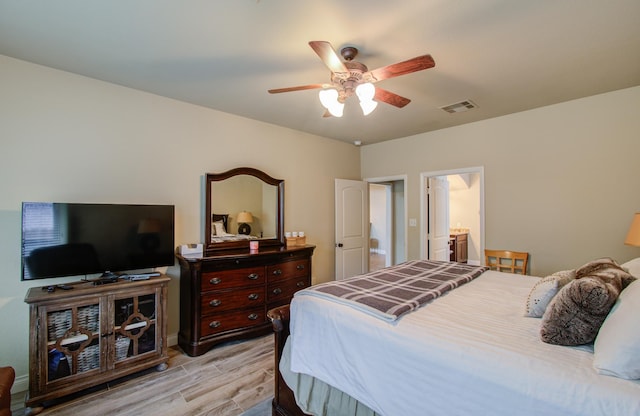
[[[640, 211], [639, 108], [634, 87], [363, 146], [362, 177], [406, 174], [419, 221], [421, 173], [483, 166], [486, 247], [529, 252], [536, 275], [623, 262], [640, 256], [623, 244]], [[420, 226], [409, 228], [412, 259]]]

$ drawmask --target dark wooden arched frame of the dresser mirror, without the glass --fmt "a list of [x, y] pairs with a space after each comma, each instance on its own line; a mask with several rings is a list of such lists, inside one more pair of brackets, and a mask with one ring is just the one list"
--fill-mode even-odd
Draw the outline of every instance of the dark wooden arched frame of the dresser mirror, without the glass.
[[249, 247], [249, 240], [243, 241], [228, 241], [223, 243], [213, 243], [211, 242], [211, 185], [213, 182], [223, 181], [225, 179], [229, 179], [238, 175], [250, 175], [254, 176], [261, 181], [274, 185], [276, 187], [276, 200], [277, 200], [277, 209], [276, 209], [276, 237], [275, 238], [262, 238], [258, 241], [260, 245], [264, 246], [283, 246], [284, 245], [284, 179], [276, 179], [273, 178], [261, 170], [254, 168], [235, 168], [228, 170], [222, 173], [207, 173], [205, 175], [205, 225], [204, 225], [204, 236], [205, 236], [205, 254], [208, 256], [212, 252], [217, 252], [220, 250], [229, 250], [229, 249], [238, 249]]

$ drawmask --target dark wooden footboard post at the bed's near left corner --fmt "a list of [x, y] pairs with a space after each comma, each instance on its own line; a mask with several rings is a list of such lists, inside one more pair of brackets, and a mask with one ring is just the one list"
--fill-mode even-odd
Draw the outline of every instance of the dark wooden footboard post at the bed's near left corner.
[[273, 416], [304, 416], [305, 413], [296, 405], [293, 391], [287, 386], [280, 374], [280, 357], [284, 343], [289, 337], [289, 305], [273, 308], [267, 312], [273, 324], [275, 337], [275, 386], [272, 403]]

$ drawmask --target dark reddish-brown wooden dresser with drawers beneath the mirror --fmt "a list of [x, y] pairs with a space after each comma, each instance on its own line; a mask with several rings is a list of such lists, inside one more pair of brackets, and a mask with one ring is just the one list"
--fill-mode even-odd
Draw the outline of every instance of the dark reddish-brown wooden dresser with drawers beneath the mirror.
[[267, 311], [311, 286], [315, 246], [233, 249], [180, 262], [178, 344], [190, 356], [271, 332]]

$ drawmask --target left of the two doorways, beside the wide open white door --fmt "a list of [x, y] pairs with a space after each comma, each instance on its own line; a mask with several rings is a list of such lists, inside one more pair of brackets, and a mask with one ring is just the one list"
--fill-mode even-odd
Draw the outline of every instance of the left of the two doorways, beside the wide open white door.
[[367, 179], [369, 184], [369, 271], [406, 261], [404, 176]]

